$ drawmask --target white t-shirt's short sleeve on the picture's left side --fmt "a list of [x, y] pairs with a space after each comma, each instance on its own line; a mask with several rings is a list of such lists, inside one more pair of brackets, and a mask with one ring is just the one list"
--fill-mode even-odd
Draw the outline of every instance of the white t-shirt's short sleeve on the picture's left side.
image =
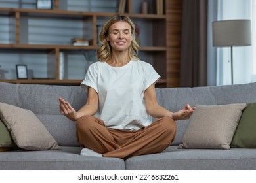
[[87, 86], [90, 86], [98, 93], [97, 78], [98, 78], [98, 65], [97, 63], [93, 63], [88, 68], [88, 71], [85, 74], [85, 78], [81, 82], [81, 88], [83, 88], [84, 90], [87, 90]]

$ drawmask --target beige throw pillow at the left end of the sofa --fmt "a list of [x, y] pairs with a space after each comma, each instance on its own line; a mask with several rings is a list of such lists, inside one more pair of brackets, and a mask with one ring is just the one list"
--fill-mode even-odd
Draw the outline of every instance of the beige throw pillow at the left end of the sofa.
[[0, 103], [0, 119], [18, 147], [25, 150], [60, 150], [53, 136], [31, 110]]

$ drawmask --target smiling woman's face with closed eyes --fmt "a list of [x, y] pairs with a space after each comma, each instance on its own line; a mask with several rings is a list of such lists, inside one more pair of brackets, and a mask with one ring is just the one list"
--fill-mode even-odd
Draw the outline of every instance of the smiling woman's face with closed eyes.
[[128, 50], [131, 40], [131, 25], [127, 22], [119, 21], [110, 26], [107, 41], [110, 42], [112, 50]]

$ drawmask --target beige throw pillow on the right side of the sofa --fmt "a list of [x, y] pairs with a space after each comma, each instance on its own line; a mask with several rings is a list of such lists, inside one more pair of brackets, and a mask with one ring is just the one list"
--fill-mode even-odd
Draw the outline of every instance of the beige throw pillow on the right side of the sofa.
[[178, 148], [230, 149], [245, 103], [196, 105]]

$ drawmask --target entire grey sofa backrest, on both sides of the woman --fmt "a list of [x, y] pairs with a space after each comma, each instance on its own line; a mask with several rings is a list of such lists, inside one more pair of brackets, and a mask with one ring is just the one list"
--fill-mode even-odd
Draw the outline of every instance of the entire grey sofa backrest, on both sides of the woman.
[[[158, 103], [175, 112], [191, 106], [256, 102], [256, 83], [195, 88], [156, 88]], [[60, 146], [78, 146], [75, 123], [60, 114], [58, 98], [69, 101], [75, 110], [85, 104], [86, 92], [80, 86], [9, 84], [0, 82], [0, 102], [32, 110]], [[14, 114], [15, 115], [15, 114]], [[177, 122], [173, 145], [180, 144], [189, 120]]]

